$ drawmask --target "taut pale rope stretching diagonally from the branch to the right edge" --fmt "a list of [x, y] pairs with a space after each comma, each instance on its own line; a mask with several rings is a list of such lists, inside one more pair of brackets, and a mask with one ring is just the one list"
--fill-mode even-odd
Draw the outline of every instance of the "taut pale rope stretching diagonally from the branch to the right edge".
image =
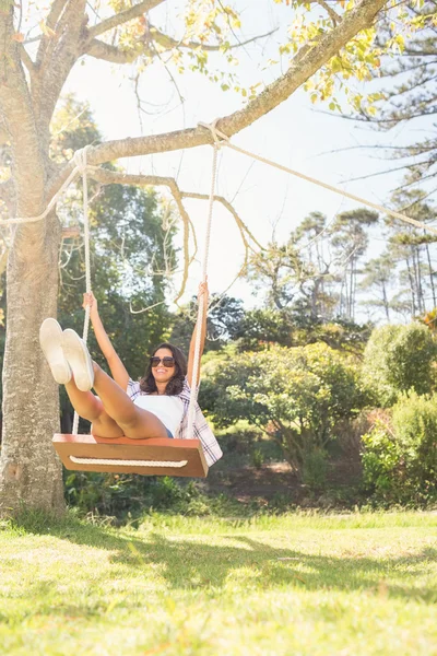
[[288, 173], [290, 175], [294, 175], [295, 177], [306, 180], [307, 183], [312, 183], [314, 185], [317, 185], [318, 187], [323, 187], [323, 189], [328, 189], [329, 191], [333, 191], [334, 194], [340, 194], [340, 196], [344, 196], [345, 198], [350, 198], [351, 200], [356, 200], [357, 202], [363, 203], [369, 208], [373, 208], [374, 210], [378, 210], [379, 212], [389, 214], [390, 216], [393, 216], [394, 219], [400, 219], [404, 223], [411, 223], [411, 225], [415, 225], [416, 227], [422, 227], [422, 229], [427, 230], [428, 232], [432, 232], [437, 235], [436, 227], [433, 227], [432, 225], [427, 225], [426, 223], [422, 223], [422, 221], [416, 221], [415, 219], [411, 219], [411, 216], [406, 216], [406, 214], [403, 214], [402, 212], [397, 212], [395, 210], [389, 210], [376, 202], [371, 202], [370, 200], [366, 200], [365, 198], [355, 196], [355, 194], [350, 194], [349, 191], [339, 189], [338, 187], [334, 187], [333, 185], [328, 185], [328, 183], [323, 183], [323, 181], [321, 181], [317, 178], [314, 178], [309, 175], [305, 175], [304, 173], [299, 173], [298, 171], [288, 168], [287, 166], [284, 166], [283, 164], [277, 164], [276, 162], [272, 162], [271, 160], [268, 160], [267, 157], [262, 157], [261, 155], [257, 155], [256, 153], [252, 153], [243, 148], [239, 148], [238, 145], [234, 145], [233, 143], [231, 143], [229, 138], [216, 128], [215, 124], [217, 122], [217, 120], [218, 119], [216, 119], [212, 125], [199, 124], [203, 128], [206, 128], [211, 131], [213, 139], [214, 139], [214, 148], [215, 148], [218, 137], [220, 137], [221, 141], [218, 143], [221, 145], [227, 145], [227, 148], [235, 150], [237, 153], [241, 153], [243, 155], [247, 155], [248, 157], [258, 160], [258, 162], [262, 162], [263, 164], [273, 166], [273, 168], [279, 168], [280, 171], [284, 171], [285, 173]]

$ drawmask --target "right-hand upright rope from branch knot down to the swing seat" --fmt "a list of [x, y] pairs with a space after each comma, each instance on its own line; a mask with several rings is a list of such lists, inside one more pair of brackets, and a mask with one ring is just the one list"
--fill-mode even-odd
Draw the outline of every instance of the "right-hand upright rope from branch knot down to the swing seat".
[[[206, 282], [206, 273], [208, 273], [208, 262], [210, 258], [210, 244], [211, 244], [211, 227], [212, 227], [212, 214], [213, 214], [213, 206], [214, 206], [214, 192], [215, 192], [215, 180], [217, 176], [217, 155], [221, 147], [221, 141], [215, 132], [215, 124], [214, 121], [211, 126], [199, 124], [202, 127], [208, 127], [212, 136], [214, 138], [214, 153], [212, 159], [212, 174], [211, 174], [211, 190], [210, 190], [210, 200], [209, 200], [209, 211], [208, 211], [208, 222], [206, 222], [206, 233], [203, 248], [203, 262], [202, 262], [202, 282]], [[191, 394], [190, 394], [190, 403], [188, 406], [188, 435], [193, 435], [193, 425], [194, 425], [194, 413], [196, 413], [196, 402], [198, 400], [198, 391], [199, 387], [197, 385], [197, 380], [199, 377], [199, 366], [200, 366], [200, 347], [201, 347], [201, 338], [202, 338], [202, 323], [203, 323], [203, 314], [208, 308], [204, 307], [204, 294], [200, 296], [199, 300], [199, 308], [198, 308], [198, 318], [196, 321], [196, 342], [194, 342], [194, 361], [192, 364], [192, 378], [191, 378]]]

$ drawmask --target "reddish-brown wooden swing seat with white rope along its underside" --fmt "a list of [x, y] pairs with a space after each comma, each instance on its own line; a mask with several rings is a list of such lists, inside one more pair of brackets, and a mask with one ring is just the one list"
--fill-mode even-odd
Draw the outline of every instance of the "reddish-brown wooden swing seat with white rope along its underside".
[[67, 469], [196, 478], [208, 475], [199, 440], [109, 440], [57, 433], [54, 446]]

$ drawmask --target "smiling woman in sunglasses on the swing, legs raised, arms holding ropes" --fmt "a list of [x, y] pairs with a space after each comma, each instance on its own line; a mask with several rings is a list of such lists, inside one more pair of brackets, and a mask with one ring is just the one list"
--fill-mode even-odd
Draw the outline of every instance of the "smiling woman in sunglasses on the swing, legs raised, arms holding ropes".
[[[199, 300], [201, 295], [204, 295], [200, 340], [202, 353], [206, 332], [206, 283], [199, 288]], [[105, 331], [93, 294], [84, 294], [84, 307], [86, 305], [90, 305], [90, 318], [97, 343], [113, 377], [92, 361], [79, 335], [69, 328], [62, 331], [55, 319], [43, 323], [39, 342], [55, 380], [66, 385], [78, 414], [92, 422], [92, 434], [132, 440], [174, 436], [181, 440], [198, 438], [202, 443], [206, 464], [211, 466], [216, 462], [222, 457], [222, 450], [198, 403], [194, 434], [188, 435], [187, 431], [197, 330], [191, 338], [188, 365], [180, 349], [164, 343], [154, 351], [143, 378], [134, 383]], [[196, 380], [198, 384], [199, 375]], [[92, 394], [92, 387], [98, 397]]]

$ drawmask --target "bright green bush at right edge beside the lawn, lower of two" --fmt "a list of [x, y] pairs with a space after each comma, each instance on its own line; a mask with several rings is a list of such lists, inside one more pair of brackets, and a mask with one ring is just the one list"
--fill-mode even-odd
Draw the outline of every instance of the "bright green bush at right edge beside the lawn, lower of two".
[[389, 423], [363, 436], [364, 480], [377, 499], [424, 504], [437, 499], [437, 395], [402, 395]]

